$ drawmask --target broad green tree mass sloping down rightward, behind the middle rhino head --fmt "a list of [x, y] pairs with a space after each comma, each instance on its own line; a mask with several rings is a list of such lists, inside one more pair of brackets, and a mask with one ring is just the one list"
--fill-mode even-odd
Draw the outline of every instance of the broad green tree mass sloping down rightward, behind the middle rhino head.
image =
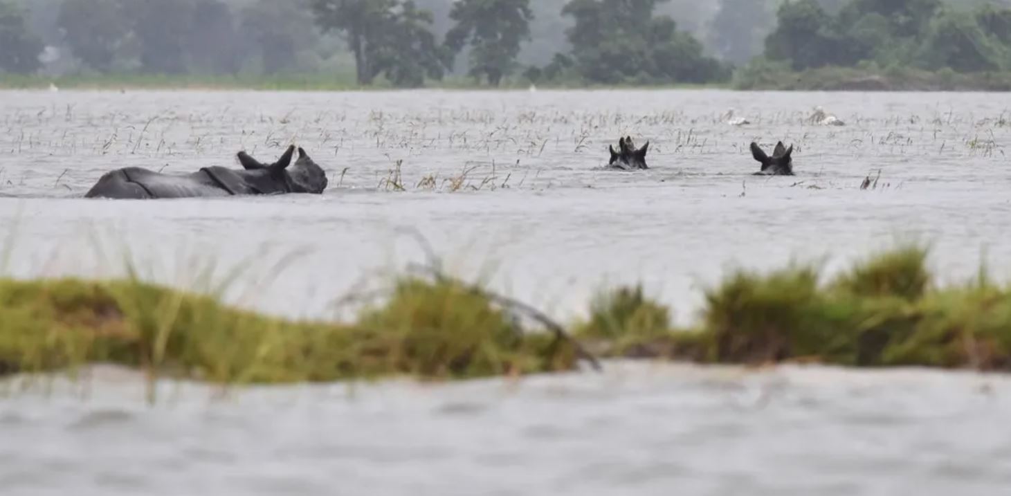
[[574, 67], [600, 83], [688, 82], [722, 79], [725, 69], [703, 55], [702, 43], [677, 30], [672, 19], [654, 16], [662, 0], [572, 0], [562, 13]]

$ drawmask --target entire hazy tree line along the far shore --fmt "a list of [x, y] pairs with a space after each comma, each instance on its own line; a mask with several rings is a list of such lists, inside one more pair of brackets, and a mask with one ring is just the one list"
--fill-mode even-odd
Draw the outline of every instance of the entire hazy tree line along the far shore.
[[96, 73], [328, 72], [327, 56], [346, 60], [361, 85], [398, 87], [441, 80], [461, 59], [493, 86], [712, 83], [769, 61], [1011, 71], [1011, 9], [942, 0], [721, 0], [708, 46], [660, 13], [667, 0], [558, 0], [566, 47], [536, 66], [518, 62], [533, 39], [531, 0], [32, 1], [51, 7], [31, 21], [45, 25], [0, 0], [0, 71], [39, 70], [48, 46]]

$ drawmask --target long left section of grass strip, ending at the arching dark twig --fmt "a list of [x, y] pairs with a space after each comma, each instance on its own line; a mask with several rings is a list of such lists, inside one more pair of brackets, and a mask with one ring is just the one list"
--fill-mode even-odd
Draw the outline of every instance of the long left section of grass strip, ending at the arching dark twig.
[[481, 296], [404, 281], [356, 324], [294, 322], [135, 281], [0, 280], [0, 373], [114, 363], [218, 383], [411, 374], [480, 377], [570, 368]]

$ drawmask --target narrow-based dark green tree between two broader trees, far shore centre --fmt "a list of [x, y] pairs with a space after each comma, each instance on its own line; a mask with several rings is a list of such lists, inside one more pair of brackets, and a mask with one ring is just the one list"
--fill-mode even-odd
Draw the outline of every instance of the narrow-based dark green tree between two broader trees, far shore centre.
[[446, 34], [446, 45], [458, 54], [469, 44], [469, 74], [498, 86], [516, 67], [520, 43], [530, 38], [534, 13], [530, 0], [460, 0], [450, 18], [456, 25]]

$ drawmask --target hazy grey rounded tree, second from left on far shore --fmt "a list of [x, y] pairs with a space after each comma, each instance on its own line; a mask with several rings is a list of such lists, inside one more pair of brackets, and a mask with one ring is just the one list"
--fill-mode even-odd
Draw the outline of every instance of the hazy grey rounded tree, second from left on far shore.
[[57, 16], [64, 42], [97, 71], [109, 71], [132, 26], [118, 0], [65, 0]]

